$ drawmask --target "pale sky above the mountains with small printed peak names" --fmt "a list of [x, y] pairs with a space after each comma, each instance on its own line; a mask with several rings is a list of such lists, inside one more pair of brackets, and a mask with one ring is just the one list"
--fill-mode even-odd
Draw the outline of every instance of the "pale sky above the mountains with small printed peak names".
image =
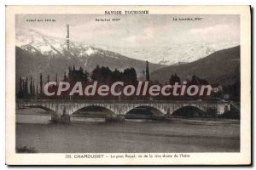
[[[201, 20], [173, 20], [173, 18]], [[113, 19], [119, 21], [96, 21]], [[28, 22], [52, 19], [55, 22]], [[89, 45], [119, 48], [150, 48], [193, 42], [239, 42], [239, 15], [183, 14], [17, 14], [16, 29], [31, 28], [50, 37], [65, 38], [70, 25], [70, 40]]]

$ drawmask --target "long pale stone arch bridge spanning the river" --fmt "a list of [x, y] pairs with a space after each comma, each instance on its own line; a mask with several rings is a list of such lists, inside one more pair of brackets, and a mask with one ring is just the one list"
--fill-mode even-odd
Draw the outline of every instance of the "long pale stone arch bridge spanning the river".
[[[163, 115], [172, 114], [174, 111], [186, 106], [193, 106], [207, 112], [214, 109], [219, 115], [230, 111], [231, 102], [228, 101], [199, 101], [199, 100], [54, 100], [54, 99], [19, 99], [16, 108], [39, 107], [53, 111], [53, 116], [58, 120], [61, 116], [71, 116], [75, 111], [88, 106], [100, 106], [112, 111], [113, 114], [122, 116], [140, 106], [149, 106]], [[69, 119], [69, 118], [68, 118]]]

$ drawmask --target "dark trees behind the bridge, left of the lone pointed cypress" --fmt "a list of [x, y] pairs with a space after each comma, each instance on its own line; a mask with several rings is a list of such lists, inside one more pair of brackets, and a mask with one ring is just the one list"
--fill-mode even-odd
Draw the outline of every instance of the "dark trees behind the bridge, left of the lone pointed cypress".
[[[55, 75], [55, 82], [58, 81], [58, 75]], [[100, 82], [100, 83], [112, 83], [112, 82], [125, 82], [126, 84], [137, 84], [137, 72], [136, 70], [131, 68], [126, 68], [124, 71], [119, 71], [115, 69], [111, 71], [108, 66], [99, 66], [96, 65], [96, 68], [89, 73], [88, 71], [84, 71], [82, 67], [79, 67], [77, 70], [75, 66], [68, 67], [68, 74], [66, 71], [64, 72], [64, 77], [61, 78], [62, 82], [83, 82], [84, 84], [88, 84], [90, 82]], [[60, 82], [61, 82], [60, 81]], [[47, 75], [47, 82], [49, 82], [49, 75]], [[21, 78], [19, 83], [19, 90], [16, 93], [18, 99], [42, 99], [44, 98], [44, 82], [43, 75], [40, 74], [40, 82], [35, 83], [32, 77], [30, 77], [30, 82], [28, 81], [28, 77]]]

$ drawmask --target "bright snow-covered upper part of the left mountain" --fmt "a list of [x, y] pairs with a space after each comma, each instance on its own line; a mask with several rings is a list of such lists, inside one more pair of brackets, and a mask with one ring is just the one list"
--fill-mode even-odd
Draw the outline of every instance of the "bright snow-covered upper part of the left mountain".
[[[67, 53], [67, 43], [65, 39], [48, 37], [32, 29], [16, 31], [16, 46], [28, 52], [41, 53], [49, 57], [57, 54], [65, 55]], [[92, 48], [82, 42], [70, 42], [68, 52], [79, 58], [86, 58], [92, 54], [102, 53], [99, 49]]]

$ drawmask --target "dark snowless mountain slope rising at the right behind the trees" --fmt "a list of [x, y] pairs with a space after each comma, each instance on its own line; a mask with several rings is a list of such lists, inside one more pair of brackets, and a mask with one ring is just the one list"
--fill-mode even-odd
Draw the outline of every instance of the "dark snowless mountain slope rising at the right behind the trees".
[[203, 59], [183, 64], [170, 65], [153, 71], [151, 80], [168, 82], [172, 74], [177, 73], [182, 81], [191, 80], [194, 75], [206, 79], [211, 84], [231, 84], [240, 74], [240, 46], [219, 50]]

